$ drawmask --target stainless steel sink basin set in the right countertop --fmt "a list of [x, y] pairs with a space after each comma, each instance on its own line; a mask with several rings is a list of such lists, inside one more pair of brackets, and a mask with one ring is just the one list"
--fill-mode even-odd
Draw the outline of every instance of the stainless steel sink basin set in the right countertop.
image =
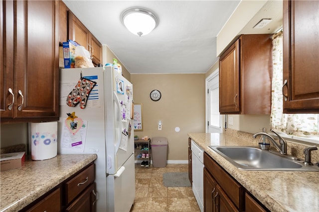
[[210, 146], [230, 163], [243, 170], [319, 171], [317, 165], [304, 165], [303, 161], [252, 146]]

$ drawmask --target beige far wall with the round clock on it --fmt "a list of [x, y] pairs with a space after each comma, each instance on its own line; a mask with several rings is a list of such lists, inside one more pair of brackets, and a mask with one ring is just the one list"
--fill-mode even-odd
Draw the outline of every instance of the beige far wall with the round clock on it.
[[[205, 132], [205, 74], [131, 74], [131, 79], [134, 102], [143, 104], [144, 131], [135, 135], [166, 137], [168, 160], [187, 160], [187, 133]], [[162, 95], [157, 102], [150, 99], [154, 89]]]

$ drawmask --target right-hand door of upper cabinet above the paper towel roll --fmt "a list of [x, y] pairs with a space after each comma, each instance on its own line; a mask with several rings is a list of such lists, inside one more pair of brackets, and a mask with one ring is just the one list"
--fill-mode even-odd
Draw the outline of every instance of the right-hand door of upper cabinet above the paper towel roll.
[[[14, 3], [14, 117], [57, 120], [59, 52], [56, 2], [31, 0]], [[54, 118], [47, 119], [49, 117]]]

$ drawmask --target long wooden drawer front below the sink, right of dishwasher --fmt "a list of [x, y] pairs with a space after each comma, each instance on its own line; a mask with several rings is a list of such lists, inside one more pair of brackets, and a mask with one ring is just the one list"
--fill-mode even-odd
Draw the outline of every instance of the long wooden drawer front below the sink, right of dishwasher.
[[238, 184], [224, 169], [222, 169], [206, 152], [204, 153], [204, 166], [214, 177], [217, 183], [223, 188], [235, 206], [241, 211], [244, 210], [245, 189]]

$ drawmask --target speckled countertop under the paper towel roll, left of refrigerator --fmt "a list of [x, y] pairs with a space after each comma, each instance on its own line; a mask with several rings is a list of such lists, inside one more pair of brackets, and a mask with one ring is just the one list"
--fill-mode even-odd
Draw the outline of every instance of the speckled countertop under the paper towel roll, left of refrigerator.
[[16, 212], [75, 174], [96, 154], [57, 155], [27, 160], [21, 168], [0, 172], [0, 212]]

